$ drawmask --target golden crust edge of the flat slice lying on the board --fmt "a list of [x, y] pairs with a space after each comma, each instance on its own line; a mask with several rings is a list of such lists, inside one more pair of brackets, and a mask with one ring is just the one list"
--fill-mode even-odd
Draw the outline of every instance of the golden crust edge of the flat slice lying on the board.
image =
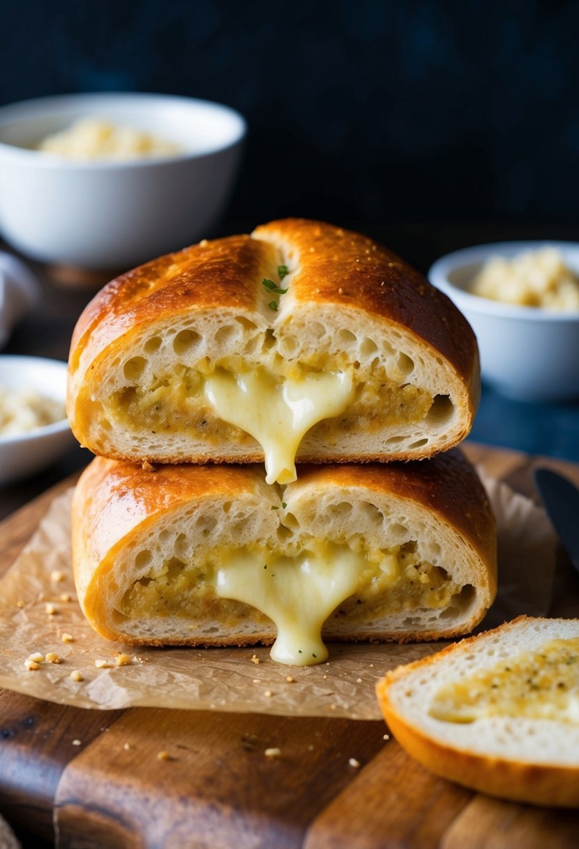
[[[393, 685], [404, 681], [413, 672], [427, 675], [429, 670], [445, 657], [457, 652], [474, 652], [481, 638], [487, 634], [503, 636], [514, 628], [532, 622], [532, 617], [518, 616], [505, 622], [492, 632], [462, 639], [458, 644], [447, 646], [434, 655], [424, 657], [388, 672], [376, 685], [379, 706], [385, 722], [402, 747], [424, 767], [442, 778], [479, 790], [490, 796], [512, 801], [530, 802], [536, 805], [555, 807], [579, 806], [579, 781], [576, 766], [556, 763], [532, 762], [532, 748], [528, 759], [502, 757], [497, 754], [484, 755], [464, 747], [445, 743], [419, 728], [408, 720], [391, 699]], [[579, 623], [579, 620], [575, 620]], [[424, 708], [425, 710], [425, 708]], [[532, 739], [529, 740], [532, 747]]]

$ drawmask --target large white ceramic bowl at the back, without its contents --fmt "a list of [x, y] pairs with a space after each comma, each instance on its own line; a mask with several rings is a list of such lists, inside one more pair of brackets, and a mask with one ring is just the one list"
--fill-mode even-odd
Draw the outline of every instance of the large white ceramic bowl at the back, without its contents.
[[[66, 160], [31, 149], [84, 117], [177, 143], [171, 158]], [[227, 106], [160, 94], [69, 94], [0, 109], [0, 233], [26, 256], [126, 269], [205, 236], [239, 165], [245, 121]]]

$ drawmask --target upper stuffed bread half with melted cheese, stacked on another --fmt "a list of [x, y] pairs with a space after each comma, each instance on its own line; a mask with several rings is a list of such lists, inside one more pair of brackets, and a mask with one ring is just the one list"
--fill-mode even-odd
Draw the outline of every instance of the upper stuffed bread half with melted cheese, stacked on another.
[[[283, 293], [283, 294], [281, 294]], [[105, 457], [253, 463], [430, 457], [469, 433], [475, 336], [390, 250], [287, 219], [108, 284], [70, 348], [68, 414]]]

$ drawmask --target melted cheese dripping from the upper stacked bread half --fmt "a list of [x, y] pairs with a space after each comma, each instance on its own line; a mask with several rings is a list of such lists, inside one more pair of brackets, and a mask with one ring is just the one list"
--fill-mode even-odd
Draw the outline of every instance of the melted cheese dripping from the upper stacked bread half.
[[265, 368], [205, 378], [205, 397], [217, 415], [263, 447], [268, 484], [295, 481], [295, 454], [310, 428], [343, 413], [354, 396], [352, 370], [280, 377]]

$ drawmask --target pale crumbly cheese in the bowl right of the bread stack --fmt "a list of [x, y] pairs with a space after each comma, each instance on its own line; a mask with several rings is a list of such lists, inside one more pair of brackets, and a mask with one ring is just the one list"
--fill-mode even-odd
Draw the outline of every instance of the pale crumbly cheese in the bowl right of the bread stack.
[[530, 250], [511, 259], [494, 256], [476, 275], [469, 291], [519, 306], [579, 310], [579, 277], [556, 248]]

